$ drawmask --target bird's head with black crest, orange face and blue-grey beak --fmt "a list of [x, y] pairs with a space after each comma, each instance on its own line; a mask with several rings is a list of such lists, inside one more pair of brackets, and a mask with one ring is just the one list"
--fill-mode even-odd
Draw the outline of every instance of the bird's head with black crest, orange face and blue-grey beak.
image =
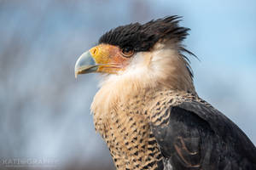
[[182, 52], [191, 53], [181, 44], [189, 29], [178, 26], [178, 19], [171, 16], [108, 31], [96, 47], [79, 57], [75, 77], [90, 72], [141, 80], [148, 77], [151, 82], [193, 91], [192, 73]]

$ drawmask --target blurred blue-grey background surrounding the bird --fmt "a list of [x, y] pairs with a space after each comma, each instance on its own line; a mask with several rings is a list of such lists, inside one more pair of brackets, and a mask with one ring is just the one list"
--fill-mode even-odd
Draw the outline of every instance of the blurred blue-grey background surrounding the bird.
[[75, 79], [75, 61], [113, 27], [173, 14], [201, 59], [189, 56], [198, 94], [256, 144], [256, 1], [0, 0], [0, 168], [114, 169], [90, 115], [98, 75]]

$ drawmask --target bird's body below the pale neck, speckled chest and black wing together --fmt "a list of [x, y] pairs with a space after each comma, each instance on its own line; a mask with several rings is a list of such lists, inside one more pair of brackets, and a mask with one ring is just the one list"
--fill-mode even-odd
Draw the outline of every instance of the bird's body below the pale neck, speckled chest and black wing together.
[[130, 97], [104, 120], [95, 120], [117, 169], [256, 167], [256, 149], [247, 136], [196, 94], [161, 89]]

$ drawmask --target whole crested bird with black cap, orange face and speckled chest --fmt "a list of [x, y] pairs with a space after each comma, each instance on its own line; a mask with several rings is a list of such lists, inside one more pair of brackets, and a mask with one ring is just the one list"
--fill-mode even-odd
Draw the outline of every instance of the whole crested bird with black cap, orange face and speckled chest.
[[195, 91], [180, 20], [118, 26], [79, 56], [75, 77], [101, 75], [96, 132], [118, 170], [255, 170], [252, 141]]

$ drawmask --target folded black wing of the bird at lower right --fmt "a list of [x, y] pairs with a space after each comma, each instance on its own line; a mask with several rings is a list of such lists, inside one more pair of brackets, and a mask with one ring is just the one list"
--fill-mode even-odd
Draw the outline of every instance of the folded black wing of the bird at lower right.
[[160, 115], [160, 123], [151, 122], [151, 129], [165, 169], [256, 169], [253, 143], [214, 108], [184, 102]]

